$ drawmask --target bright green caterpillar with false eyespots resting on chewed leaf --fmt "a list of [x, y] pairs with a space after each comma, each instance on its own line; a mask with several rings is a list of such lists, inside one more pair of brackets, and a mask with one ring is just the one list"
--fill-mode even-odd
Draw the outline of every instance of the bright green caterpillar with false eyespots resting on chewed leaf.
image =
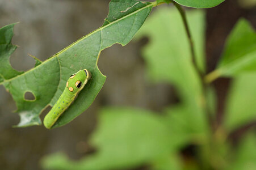
[[74, 101], [75, 96], [85, 87], [87, 81], [91, 78], [88, 70], [79, 70], [77, 73], [72, 74], [66, 82], [66, 87], [60, 98], [53, 105], [51, 111], [44, 117], [44, 126], [51, 129], [58, 117], [70, 106]]

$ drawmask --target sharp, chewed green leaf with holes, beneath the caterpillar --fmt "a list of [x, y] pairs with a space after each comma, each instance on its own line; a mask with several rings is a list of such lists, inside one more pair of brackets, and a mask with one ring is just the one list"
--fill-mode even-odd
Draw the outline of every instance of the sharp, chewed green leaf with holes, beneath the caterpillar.
[[[18, 126], [40, 125], [39, 114], [47, 105], [54, 105], [65, 88], [66, 80], [80, 69], [89, 70], [92, 78], [69, 109], [58, 118], [53, 128], [67, 124], [85, 111], [93, 103], [106, 80], [106, 76], [100, 73], [97, 66], [100, 52], [115, 43], [126, 45], [131, 41], [154, 5], [156, 3], [135, 0], [111, 1], [106, 20], [108, 23], [105, 22], [99, 29], [82, 37], [26, 73], [18, 76], [8, 73], [6, 80], [0, 84], [10, 91], [16, 102], [17, 112], [21, 118]], [[7, 42], [10, 42], [10, 35], [12, 33], [6, 34]], [[1, 34], [1, 36], [4, 35]], [[7, 50], [1, 49], [2, 53], [7, 53]], [[7, 57], [10, 54], [10, 52], [6, 54]], [[0, 64], [6, 65], [5, 60], [2, 59]], [[1, 69], [0, 74], [4, 73], [6, 70]], [[31, 91], [36, 100], [24, 100], [26, 91]]]

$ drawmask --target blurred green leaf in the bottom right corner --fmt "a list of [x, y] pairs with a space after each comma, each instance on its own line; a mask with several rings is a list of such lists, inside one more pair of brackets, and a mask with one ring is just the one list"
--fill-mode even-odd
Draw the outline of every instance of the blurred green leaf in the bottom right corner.
[[238, 145], [237, 152], [234, 154], [235, 158], [232, 163], [229, 164], [230, 170], [254, 170], [256, 168], [256, 135], [255, 129], [246, 134], [241, 139], [240, 145]]

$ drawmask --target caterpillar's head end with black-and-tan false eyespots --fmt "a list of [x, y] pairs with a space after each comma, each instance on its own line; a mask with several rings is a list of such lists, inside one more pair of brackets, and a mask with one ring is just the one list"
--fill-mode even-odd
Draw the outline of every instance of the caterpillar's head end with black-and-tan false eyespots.
[[66, 82], [66, 88], [68, 88], [69, 92], [80, 91], [90, 78], [91, 74], [88, 70], [79, 70], [70, 76], [68, 82]]

